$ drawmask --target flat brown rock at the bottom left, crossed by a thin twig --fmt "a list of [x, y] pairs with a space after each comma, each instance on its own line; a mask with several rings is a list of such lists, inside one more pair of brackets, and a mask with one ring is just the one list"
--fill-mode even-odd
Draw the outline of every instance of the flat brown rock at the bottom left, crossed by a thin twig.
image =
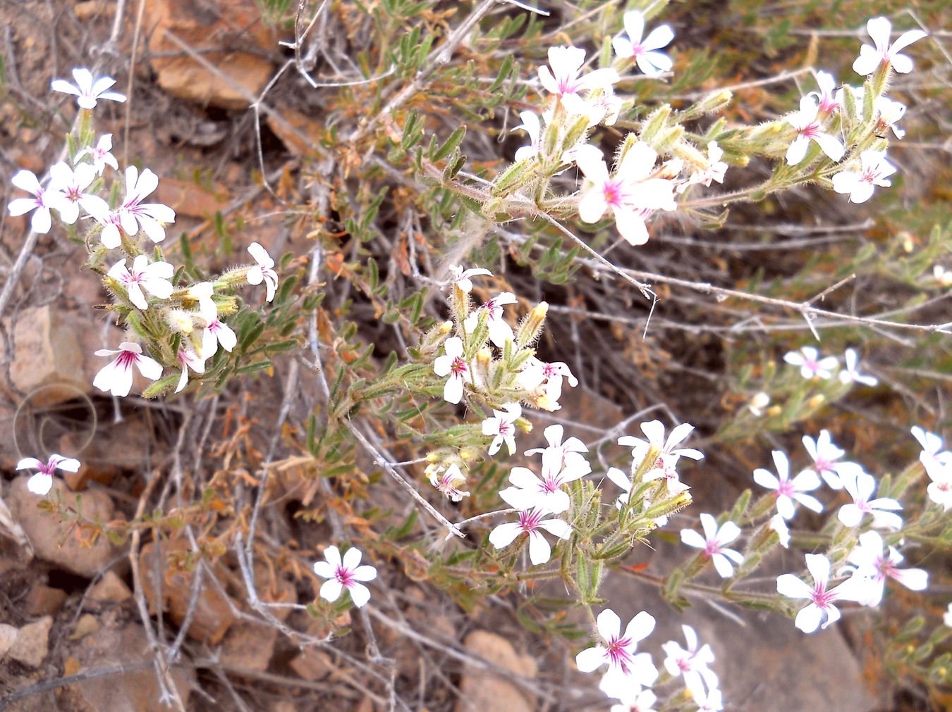
[[[129, 624], [124, 628], [100, 628], [74, 644], [73, 652], [86, 669], [108, 667], [115, 664], [149, 663], [149, 639], [141, 625]], [[171, 669], [172, 682], [188, 709], [188, 696], [194, 685], [194, 677], [184, 667]], [[93, 712], [169, 712], [169, 706], [160, 702], [158, 683], [151, 665], [123, 675], [89, 678], [69, 686], [82, 704], [76, 707]]]

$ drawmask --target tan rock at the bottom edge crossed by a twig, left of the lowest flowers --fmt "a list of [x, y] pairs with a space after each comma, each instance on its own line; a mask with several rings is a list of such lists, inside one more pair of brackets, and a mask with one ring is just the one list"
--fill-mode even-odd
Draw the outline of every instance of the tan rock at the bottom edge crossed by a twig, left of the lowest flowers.
[[[503, 667], [515, 675], [534, 678], [535, 660], [519, 655], [506, 638], [487, 630], [474, 630], [466, 636], [466, 651], [488, 663]], [[460, 699], [456, 712], [481, 712], [505, 709], [506, 712], [532, 712], [535, 701], [507, 678], [484, 670], [466, 668], [460, 681]]]

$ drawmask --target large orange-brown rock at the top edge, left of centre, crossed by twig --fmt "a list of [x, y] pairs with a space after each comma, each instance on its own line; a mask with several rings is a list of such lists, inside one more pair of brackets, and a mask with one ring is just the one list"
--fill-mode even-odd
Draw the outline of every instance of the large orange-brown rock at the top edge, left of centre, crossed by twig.
[[189, 48], [202, 50], [202, 57], [218, 70], [210, 71], [188, 56], [153, 57], [159, 85], [170, 94], [203, 106], [246, 108], [271, 78], [273, 67], [267, 59], [235, 49], [277, 47], [253, 0], [153, 0], [146, 5], [146, 16], [152, 52], [182, 52], [169, 37], [174, 35]]

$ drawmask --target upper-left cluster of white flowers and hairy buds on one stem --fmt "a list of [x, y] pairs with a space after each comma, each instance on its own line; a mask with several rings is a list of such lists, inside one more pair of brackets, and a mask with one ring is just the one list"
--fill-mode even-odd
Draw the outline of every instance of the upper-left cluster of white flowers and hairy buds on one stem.
[[[69, 137], [73, 149], [69, 163], [50, 166], [45, 184], [29, 170], [17, 172], [11, 183], [32, 197], [14, 199], [8, 210], [14, 216], [32, 211], [30, 226], [37, 233], [50, 231], [53, 211], [63, 224], [73, 226], [72, 230], [89, 225], [84, 240], [89, 266], [103, 276], [114, 300], [111, 309], [131, 332], [118, 349], [96, 352], [96, 356], [116, 357], [95, 375], [93, 385], [125, 396], [132, 387], [133, 367], [151, 381], [162, 379], [170, 368], [179, 372], [178, 393], [188, 384], [189, 371], [205, 373], [206, 362], [219, 345], [230, 352], [237, 343], [234, 332], [222, 320], [237, 309], [236, 299], [228, 292], [245, 282], [265, 282], [268, 301], [275, 297], [278, 276], [274, 260], [254, 242], [248, 247], [253, 265], [232, 269], [212, 281], [182, 284], [181, 272], [177, 273], [154, 246], [165, 241], [166, 226], [175, 221], [175, 211], [169, 205], [146, 202], [158, 188], [158, 176], [149, 168], [140, 172], [134, 165], [121, 176], [111, 176], [107, 168], [119, 170], [111, 153], [112, 136], [94, 140], [92, 109], [97, 102], [124, 102], [126, 97], [109, 90], [115, 84], [109, 77], [94, 78], [84, 68], [73, 69], [72, 75], [75, 84], [55, 80], [51, 86], [75, 96], [80, 108], [77, 133]], [[122, 198], [118, 198], [120, 190]], [[114, 197], [115, 204], [110, 205], [103, 196]], [[113, 250], [121, 250], [125, 257], [107, 268], [104, 262]], [[151, 318], [153, 312], [158, 316]], [[146, 341], [147, 348], [139, 338]]]

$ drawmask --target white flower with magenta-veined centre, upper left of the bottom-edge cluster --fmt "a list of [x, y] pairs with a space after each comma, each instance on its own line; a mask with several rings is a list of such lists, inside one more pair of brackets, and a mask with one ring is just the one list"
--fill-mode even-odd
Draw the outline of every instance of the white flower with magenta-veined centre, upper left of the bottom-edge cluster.
[[582, 672], [593, 672], [602, 665], [608, 665], [608, 674], [618, 681], [628, 681], [650, 686], [658, 679], [658, 668], [651, 662], [648, 653], [636, 653], [639, 641], [645, 640], [654, 630], [655, 619], [643, 610], [625, 626], [622, 634], [622, 620], [610, 608], [605, 608], [596, 619], [602, 643], [575, 656], [575, 664]]

